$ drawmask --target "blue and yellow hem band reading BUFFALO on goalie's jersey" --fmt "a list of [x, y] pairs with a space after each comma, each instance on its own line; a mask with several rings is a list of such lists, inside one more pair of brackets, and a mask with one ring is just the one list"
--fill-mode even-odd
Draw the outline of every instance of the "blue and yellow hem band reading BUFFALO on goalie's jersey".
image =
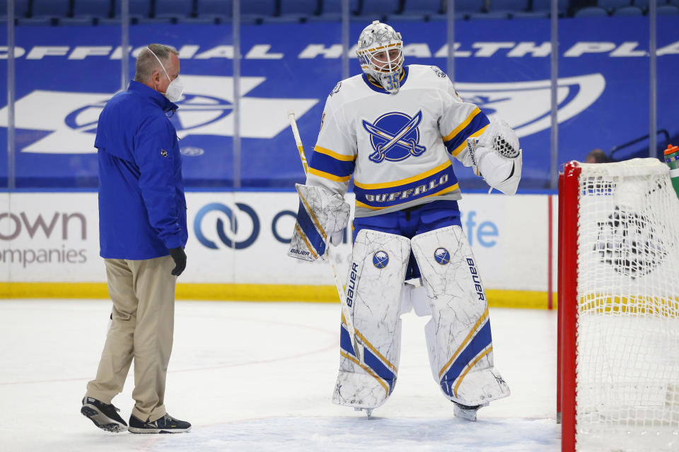
[[354, 180], [356, 207], [381, 210], [428, 196], [440, 196], [459, 191], [453, 164], [446, 160], [429, 171], [407, 179], [383, 184], [363, 184]]

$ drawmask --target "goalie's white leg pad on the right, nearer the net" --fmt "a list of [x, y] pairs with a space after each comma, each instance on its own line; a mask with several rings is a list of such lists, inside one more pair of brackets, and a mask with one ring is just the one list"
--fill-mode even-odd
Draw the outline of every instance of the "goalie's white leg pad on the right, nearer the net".
[[419, 234], [411, 244], [431, 307], [425, 335], [441, 391], [470, 406], [509, 396], [509, 387], [493, 367], [486, 295], [462, 228]]

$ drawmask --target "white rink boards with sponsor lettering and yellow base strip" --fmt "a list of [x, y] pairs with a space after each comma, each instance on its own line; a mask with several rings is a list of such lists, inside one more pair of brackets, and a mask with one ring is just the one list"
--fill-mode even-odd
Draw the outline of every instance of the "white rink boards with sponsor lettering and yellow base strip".
[[[347, 197], [352, 203], [352, 194]], [[550, 256], [556, 262], [549, 243], [553, 198], [467, 194], [460, 202], [491, 305], [548, 307]], [[187, 205], [188, 263], [179, 298], [337, 300], [327, 263], [286, 256], [296, 193], [190, 192]], [[351, 257], [349, 229], [346, 237], [335, 250], [342, 280]], [[0, 195], [0, 297], [108, 297], [96, 193]]]

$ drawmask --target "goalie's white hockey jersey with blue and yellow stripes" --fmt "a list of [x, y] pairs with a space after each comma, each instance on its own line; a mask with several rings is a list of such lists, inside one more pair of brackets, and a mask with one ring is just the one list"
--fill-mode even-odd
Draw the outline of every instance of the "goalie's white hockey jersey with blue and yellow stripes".
[[347, 78], [325, 102], [307, 184], [343, 195], [353, 175], [356, 217], [457, 200], [451, 155], [471, 166], [467, 138], [488, 124], [436, 66], [405, 66], [395, 94], [366, 74]]

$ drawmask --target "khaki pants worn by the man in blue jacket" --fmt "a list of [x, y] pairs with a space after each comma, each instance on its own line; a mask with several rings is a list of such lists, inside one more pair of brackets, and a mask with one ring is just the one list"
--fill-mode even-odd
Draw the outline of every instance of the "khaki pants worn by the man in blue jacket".
[[104, 259], [112, 322], [101, 354], [97, 376], [87, 383], [86, 396], [111, 403], [122, 391], [134, 358], [136, 401], [132, 414], [139, 420], [166, 414], [163, 400], [172, 351], [175, 317], [175, 263], [170, 256], [144, 261]]

